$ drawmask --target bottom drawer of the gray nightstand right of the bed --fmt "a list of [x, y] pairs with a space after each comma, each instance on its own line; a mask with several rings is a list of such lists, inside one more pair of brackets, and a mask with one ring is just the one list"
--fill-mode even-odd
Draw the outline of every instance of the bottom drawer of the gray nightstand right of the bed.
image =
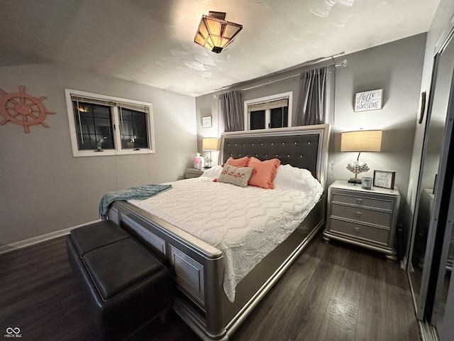
[[341, 232], [355, 238], [367, 239], [370, 242], [388, 244], [388, 229], [377, 229], [376, 227], [355, 224], [354, 222], [332, 219], [330, 231]]

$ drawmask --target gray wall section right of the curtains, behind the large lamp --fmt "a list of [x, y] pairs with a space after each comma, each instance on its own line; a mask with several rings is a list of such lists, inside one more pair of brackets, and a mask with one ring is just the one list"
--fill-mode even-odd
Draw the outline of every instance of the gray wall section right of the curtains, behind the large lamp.
[[[396, 185], [401, 194], [398, 223], [409, 235], [412, 217], [407, 217], [411, 203], [407, 197], [411, 153], [417, 124], [418, 103], [426, 34], [397, 40], [347, 56], [348, 67], [336, 74], [336, 123], [333, 151], [333, 178], [345, 179], [350, 172], [345, 164], [355, 157], [341, 153], [341, 132], [382, 129], [382, 151], [361, 153], [360, 160], [373, 176], [373, 170], [396, 171]], [[353, 95], [364, 90], [383, 89], [383, 107], [370, 112], [353, 112]]]

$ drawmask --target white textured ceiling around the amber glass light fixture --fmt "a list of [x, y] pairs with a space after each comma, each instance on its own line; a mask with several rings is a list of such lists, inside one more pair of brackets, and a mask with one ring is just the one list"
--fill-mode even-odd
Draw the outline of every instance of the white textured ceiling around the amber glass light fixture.
[[[197, 96], [426, 32], [438, 2], [1, 0], [0, 66], [55, 61]], [[220, 54], [194, 43], [209, 11], [243, 25]]]

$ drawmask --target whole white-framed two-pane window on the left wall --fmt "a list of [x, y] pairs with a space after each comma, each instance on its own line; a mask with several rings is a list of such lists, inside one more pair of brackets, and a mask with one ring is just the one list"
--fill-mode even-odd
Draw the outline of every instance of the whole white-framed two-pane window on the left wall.
[[73, 156], [154, 153], [150, 103], [65, 89]]

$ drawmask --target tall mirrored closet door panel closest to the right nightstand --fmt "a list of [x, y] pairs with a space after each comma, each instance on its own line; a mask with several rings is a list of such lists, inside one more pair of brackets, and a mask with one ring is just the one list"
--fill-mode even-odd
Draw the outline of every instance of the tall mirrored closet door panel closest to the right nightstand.
[[[452, 35], [450, 35], [452, 36]], [[431, 319], [436, 279], [441, 259], [440, 236], [446, 212], [441, 205], [447, 156], [443, 156], [448, 107], [454, 72], [454, 40], [450, 37], [435, 56], [428, 115], [424, 134], [414, 226], [409, 251], [409, 278], [414, 293], [416, 316]], [[452, 123], [452, 122], [451, 122]], [[448, 179], [449, 182], [449, 179]], [[450, 186], [449, 186], [450, 188]], [[445, 217], [445, 216], [444, 216]]]

